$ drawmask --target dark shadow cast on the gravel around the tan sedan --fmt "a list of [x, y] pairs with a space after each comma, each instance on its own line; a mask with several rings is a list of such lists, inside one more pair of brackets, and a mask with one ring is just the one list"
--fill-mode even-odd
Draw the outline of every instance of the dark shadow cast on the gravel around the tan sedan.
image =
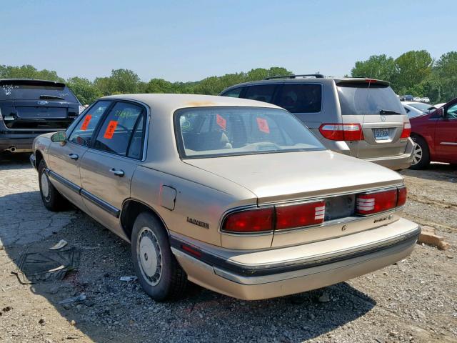
[[[4, 167], [0, 167], [0, 175], [1, 169]], [[29, 307], [21, 307], [22, 303], [29, 302], [28, 294], [33, 292], [44, 297], [46, 306], [50, 307], [46, 311], [46, 322], [52, 323], [54, 319], [58, 322], [62, 318], [67, 322], [74, 320], [81, 334], [94, 342], [301, 342], [352, 322], [376, 304], [346, 283], [255, 302], [232, 299], [191, 285], [181, 301], [156, 303], [137, 282], [119, 280], [121, 276], [134, 275], [129, 244], [78, 210], [64, 212], [66, 220], [68, 216], [71, 220], [65, 222], [63, 228], [49, 229], [49, 223], [59, 222], [62, 214], [47, 212], [44, 207], [36, 209], [36, 202], [41, 200], [36, 193], [6, 194], [0, 198], [0, 206], [14, 203], [24, 209], [34, 209], [34, 215], [42, 219], [34, 223], [35, 239], [21, 243], [10, 237], [17, 232], [4, 229], [9, 217], [0, 217], [0, 239], [10, 242], [4, 246], [7, 256], [2, 257], [0, 264], [0, 274], [8, 276], [5, 301], [10, 302], [15, 311], [23, 312], [17, 315], [26, 316], [26, 321], [36, 321], [39, 318], [36, 316], [44, 311], [34, 308], [33, 301]], [[81, 250], [77, 271], [70, 272], [61, 281], [32, 285], [21, 285], [9, 275], [16, 269], [22, 254], [46, 251], [61, 239], [69, 242], [68, 247]], [[5, 263], [4, 259], [13, 262]], [[319, 301], [324, 292], [328, 294], [328, 302]], [[86, 299], [59, 304], [79, 294], [84, 294]], [[59, 340], [54, 337], [51, 324], [46, 325], [51, 338]], [[59, 330], [64, 331], [61, 339], [87, 339], [65, 337], [65, 327], [60, 326]]]

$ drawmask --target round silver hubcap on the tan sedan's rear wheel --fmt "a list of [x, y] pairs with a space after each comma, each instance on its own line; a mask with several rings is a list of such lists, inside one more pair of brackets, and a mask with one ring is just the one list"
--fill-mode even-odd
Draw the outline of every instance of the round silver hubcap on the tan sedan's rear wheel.
[[148, 227], [140, 231], [136, 258], [146, 281], [156, 286], [162, 276], [162, 254], [156, 235]]

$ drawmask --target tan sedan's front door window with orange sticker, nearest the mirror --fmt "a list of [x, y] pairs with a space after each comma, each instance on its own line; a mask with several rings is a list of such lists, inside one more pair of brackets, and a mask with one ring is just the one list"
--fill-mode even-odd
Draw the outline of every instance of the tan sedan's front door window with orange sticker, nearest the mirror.
[[110, 105], [111, 101], [98, 101], [88, 111], [85, 111], [84, 116], [76, 124], [74, 130], [71, 131], [69, 141], [84, 146], [91, 145], [94, 130]]

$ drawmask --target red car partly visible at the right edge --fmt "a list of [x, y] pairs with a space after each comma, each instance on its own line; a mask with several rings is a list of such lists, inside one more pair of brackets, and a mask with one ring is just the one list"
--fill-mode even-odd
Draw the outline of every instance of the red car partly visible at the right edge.
[[430, 161], [457, 164], [457, 98], [409, 121], [414, 141], [411, 169], [424, 169]]

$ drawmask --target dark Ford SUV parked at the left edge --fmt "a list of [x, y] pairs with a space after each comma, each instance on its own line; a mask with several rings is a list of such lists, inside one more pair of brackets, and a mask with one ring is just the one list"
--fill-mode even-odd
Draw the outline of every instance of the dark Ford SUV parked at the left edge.
[[66, 129], [82, 109], [61, 82], [0, 79], [0, 152], [31, 151], [36, 136]]

